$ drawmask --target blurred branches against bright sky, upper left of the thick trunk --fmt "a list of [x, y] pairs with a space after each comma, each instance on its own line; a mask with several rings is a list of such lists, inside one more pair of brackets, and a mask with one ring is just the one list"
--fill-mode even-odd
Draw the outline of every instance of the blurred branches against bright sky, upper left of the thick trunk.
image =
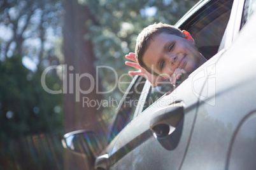
[[44, 60], [55, 60], [59, 64], [59, 58], [53, 55], [55, 44], [49, 36], [62, 36], [61, 32], [59, 34], [61, 11], [62, 4], [58, 0], [0, 3], [0, 23], [6, 31], [0, 46], [2, 60], [15, 54], [31, 58], [38, 65]]

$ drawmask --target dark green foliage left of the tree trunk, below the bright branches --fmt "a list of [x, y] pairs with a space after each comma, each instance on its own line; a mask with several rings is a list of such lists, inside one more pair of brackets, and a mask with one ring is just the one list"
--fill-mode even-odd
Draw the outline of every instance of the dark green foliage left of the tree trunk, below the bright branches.
[[[41, 73], [27, 70], [20, 56], [0, 62], [0, 141], [62, 128], [62, 96], [46, 93]], [[46, 84], [60, 88], [59, 78], [50, 74]]]

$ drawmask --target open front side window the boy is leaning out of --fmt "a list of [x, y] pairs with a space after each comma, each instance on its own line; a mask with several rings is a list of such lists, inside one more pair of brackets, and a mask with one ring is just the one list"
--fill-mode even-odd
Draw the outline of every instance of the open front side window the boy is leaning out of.
[[[179, 27], [181, 30], [190, 32], [196, 41], [197, 48], [207, 60], [219, 50], [220, 42], [229, 22], [232, 3], [232, 0], [210, 2], [190, 16]], [[159, 100], [164, 94], [171, 91], [173, 91], [173, 87], [169, 85], [150, 88], [143, 111]]]

